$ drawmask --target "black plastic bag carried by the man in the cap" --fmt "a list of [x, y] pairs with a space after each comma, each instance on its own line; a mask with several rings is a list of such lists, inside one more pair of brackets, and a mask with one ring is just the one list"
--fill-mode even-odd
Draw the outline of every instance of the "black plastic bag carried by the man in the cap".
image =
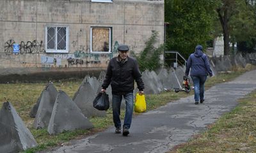
[[97, 110], [108, 110], [109, 108], [109, 98], [106, 92], [99, 92], [96, 98], [93, 100], [93, 107]]

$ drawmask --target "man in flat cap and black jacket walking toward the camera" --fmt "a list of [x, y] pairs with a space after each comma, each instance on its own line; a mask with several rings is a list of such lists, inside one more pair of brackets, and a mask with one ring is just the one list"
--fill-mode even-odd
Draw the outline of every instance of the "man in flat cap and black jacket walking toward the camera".
[[133, 112], [133, 90], [134, 80], [139, 89], [139, 94], [144, 94], [144, 84], [141, 79], [138, 62], [127, 55], [129, 47], [118, 45], [118, 56], [109, 61], [106, 78], [102, 84], [102, 92], [106, 92], [108, 85], [112, 88], [113, 122], [115, 133], [121, 133], [120, 106], [122, 96], [125, 99], [125, 119], [123, 125], [123, 135], [129, 135], [129, 128], [132, 122]]

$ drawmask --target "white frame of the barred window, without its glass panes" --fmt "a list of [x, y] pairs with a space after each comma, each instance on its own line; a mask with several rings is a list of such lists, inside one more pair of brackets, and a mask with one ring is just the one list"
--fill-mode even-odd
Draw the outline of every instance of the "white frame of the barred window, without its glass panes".
[[[56, 44], [56, 47], [55, 49], [47, 49], [47, 43], [48, 43], [48, 40], [47, 40], [47, 27], [55, 27], [56, 30], [55, 30], [55, 44]], [[66, 49], [65, 50], [58, 50], [57, 47], [57, 39], [58, 39], [58, 36], [57, 36], [57, 28], [58, 27], [66, 27]], [[46, 25], [45, 26], [45, 52], [48, 52], [48, 53], [68, 53], [68, 35], [69, 35], [69, 28], [68, 26], [65, 26], [65, 25]]]

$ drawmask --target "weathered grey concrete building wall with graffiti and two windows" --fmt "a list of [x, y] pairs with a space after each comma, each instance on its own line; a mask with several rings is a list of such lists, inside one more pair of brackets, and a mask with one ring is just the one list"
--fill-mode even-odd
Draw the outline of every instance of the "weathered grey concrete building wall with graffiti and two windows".
[[1, 0], [0, 74], [106, 69], [125, 43], [164, 43], [163, 0]]

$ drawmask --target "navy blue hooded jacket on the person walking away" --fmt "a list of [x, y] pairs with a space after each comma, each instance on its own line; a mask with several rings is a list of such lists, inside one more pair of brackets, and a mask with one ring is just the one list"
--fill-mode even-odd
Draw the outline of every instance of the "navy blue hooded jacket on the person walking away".
[[185, 72], [186, 75], [189, 75], [189, 69], [191, 68], [191, 76], [210, 75], [210, 77], [212, 77], [212, 70], [207, 55], [205, 55], [202, 50], [203, 47], [201, 45], [197, 45], [195, 52], [189, 55]]

